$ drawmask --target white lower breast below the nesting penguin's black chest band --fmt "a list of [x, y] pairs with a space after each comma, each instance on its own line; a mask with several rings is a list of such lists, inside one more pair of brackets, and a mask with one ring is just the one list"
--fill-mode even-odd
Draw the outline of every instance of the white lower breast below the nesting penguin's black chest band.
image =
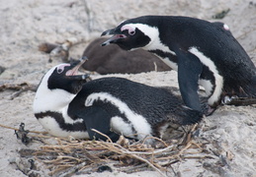
[[52, 117], [43, 117], [39, 119], [43, 128], [52, 136], [67, 138], [69, 136], [77, 139], [89, 139], [88, 132], [69, 132], [60, 129], [58, 123]]

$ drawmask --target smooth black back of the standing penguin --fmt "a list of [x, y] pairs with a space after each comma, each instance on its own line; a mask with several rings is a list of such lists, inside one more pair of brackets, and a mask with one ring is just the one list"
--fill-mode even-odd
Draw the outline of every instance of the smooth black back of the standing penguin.
[[[137, 23], [156, 27], [161, 42], [175, 53], [197, 47], [213, 61], [223, 76], [224, 91], [240, 92], [243, 89], [256, 96], [256, 68], [253, 62], [231, 32], [220, 28], [219, 23], [189, 17], [144, 16], [130, 19], [119, 27]], [[134, 46], [138, 45], [137, 41], [133, 42]]]

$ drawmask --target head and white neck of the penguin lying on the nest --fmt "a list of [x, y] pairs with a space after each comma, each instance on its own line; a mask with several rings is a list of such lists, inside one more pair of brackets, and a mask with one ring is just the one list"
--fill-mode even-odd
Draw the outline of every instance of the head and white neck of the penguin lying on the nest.
[[58, 110], [73, 99], [89, 78], [89, 75], [78, 75], [85, 61], [83, 58], [71, 64], [59, 64], [43, 76], [34, 100], [35, 113]]

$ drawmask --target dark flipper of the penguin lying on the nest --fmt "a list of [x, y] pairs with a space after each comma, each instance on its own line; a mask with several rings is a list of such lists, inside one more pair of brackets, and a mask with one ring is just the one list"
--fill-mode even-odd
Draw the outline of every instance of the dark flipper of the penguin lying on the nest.
[[102, 107], [90, 106], [81, 115], [80, 117], [84, 119], [90, 140], [108, 140], [106, 137], [92, 131], [92, 129], [107, 135], [113, 142], [119, 140], [120, 135], [111, 131], [110, 121], [112, 116]]

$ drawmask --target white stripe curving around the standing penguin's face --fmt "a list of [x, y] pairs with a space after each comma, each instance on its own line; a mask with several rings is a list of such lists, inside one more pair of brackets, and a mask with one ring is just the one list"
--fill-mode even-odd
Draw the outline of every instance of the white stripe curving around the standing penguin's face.
[[163, 44], [159, 38], [159, 30], [156, 27], [150, 27], [145, 24], [127, 24], [127, 27], [130, 29], [139, 29], [141, 30], [145, 35], [150, 37], [151, 41], [142, 47], [144, 50], [156, 50], [160, 49], [164, 52], [171, 53], [173, 55], [176, 55], [174, 51], [170, 50], [170, 48]]

